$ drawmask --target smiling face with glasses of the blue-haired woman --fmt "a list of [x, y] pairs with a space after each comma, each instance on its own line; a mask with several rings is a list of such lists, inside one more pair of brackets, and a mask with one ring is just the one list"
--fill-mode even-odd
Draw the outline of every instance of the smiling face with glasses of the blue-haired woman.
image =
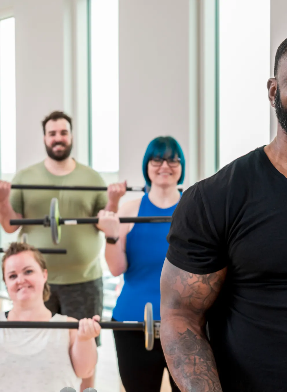
[[181, 164], [177, 156], [166, 157], [166, 160], [163, 161], [160, 158], [153, 158], [148, 162], [148, 177], [152, 185], [176, 187], [181, 178], [181, 171]]

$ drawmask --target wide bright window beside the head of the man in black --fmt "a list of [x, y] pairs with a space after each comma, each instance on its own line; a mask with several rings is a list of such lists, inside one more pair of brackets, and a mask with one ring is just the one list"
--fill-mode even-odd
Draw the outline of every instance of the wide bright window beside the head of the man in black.
[[219, 0], [220, 167], [269, 143], [269, 77], [270, 0]]

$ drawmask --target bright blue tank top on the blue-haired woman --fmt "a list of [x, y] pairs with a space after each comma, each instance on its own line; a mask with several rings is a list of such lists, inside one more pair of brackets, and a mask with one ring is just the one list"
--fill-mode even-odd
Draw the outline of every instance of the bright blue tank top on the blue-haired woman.
[[[144, 194], [138, 216], [171, 216], [177, 204], [170, 208], [156, 207]], [[143, 321], [144, 305], [153, 305], [153, 319], [160, 320], [161, 270], [168, 250], [166, 236], [170, 223], [135, 223], [126, 236], [128, 269], [124, 285], [113, 311], [117, 321]]]

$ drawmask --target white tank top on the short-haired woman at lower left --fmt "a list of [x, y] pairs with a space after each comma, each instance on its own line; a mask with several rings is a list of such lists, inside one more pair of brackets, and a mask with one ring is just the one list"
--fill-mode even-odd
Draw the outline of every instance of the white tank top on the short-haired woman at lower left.
[[[0, 321], [7, 321], [0, 312]], [[55, 314], [50, 322], [67, 321]], [[69, 355], [69, 329], [0, 328], [0, 392], [80, 390]]]

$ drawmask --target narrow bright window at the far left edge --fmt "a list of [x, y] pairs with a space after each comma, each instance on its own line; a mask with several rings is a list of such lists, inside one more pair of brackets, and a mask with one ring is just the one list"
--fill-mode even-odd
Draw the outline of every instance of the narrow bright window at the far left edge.
[[15, 20], [0, 20], [1, 173], [16, 172]]

